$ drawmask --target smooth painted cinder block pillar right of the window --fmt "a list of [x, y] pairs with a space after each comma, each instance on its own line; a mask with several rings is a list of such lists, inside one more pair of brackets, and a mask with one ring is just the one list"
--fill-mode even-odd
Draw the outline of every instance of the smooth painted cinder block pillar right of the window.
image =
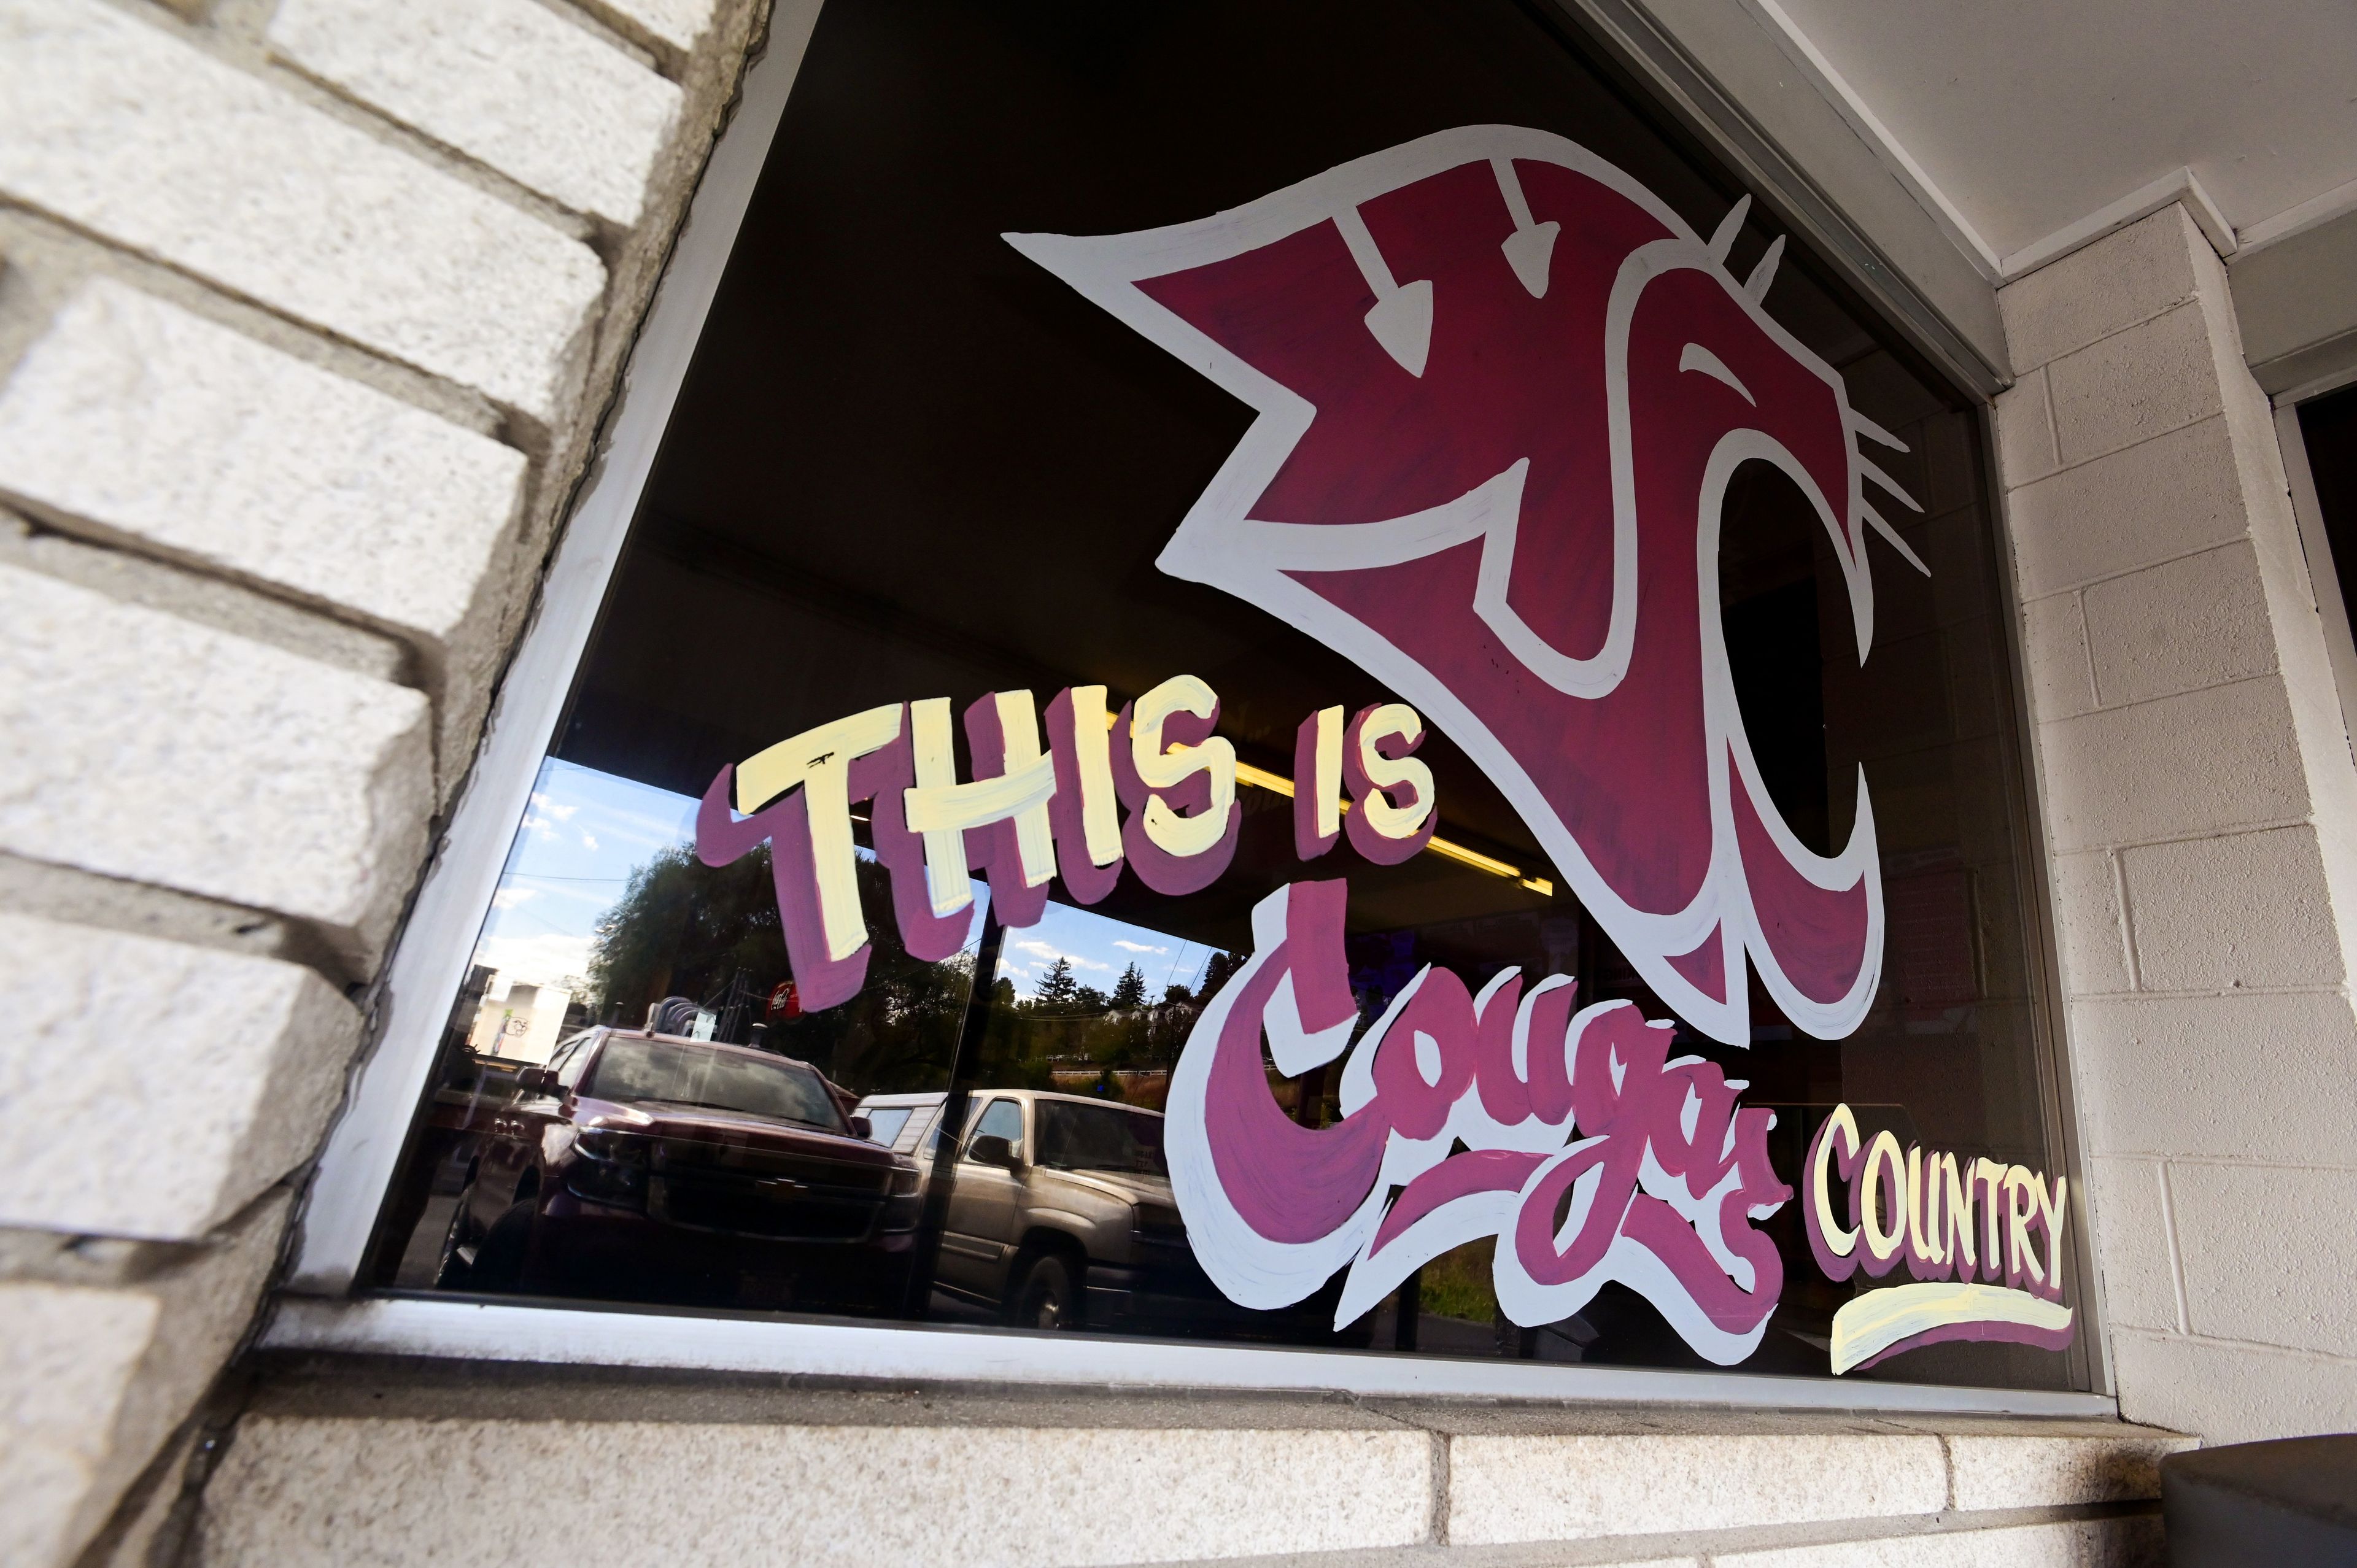
[[2121, 1410], [2357, 1427], [2357, 771], [2225, 269], [2166, 207], [1999, 295], [1999, 457]]

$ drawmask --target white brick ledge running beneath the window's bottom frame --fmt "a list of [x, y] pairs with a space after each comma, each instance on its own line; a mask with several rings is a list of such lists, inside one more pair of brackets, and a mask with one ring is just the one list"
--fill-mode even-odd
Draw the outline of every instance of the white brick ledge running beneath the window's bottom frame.
[[[537, 1507], [632, 1518], [603, 1551], [632, 1568], [2126, 1568], [2154, 1561], [2154, 1518], [2029, 1521], [2150, 1500], [2159, 1457], [2185, 1448], [2119, 1424], [1688, 1412], [1662, 1431], [1657, 1410], [1450, 1401], [948, 1394], [912, 1410], [841, 1394], [761, 1415], [735, 1403], [750, 1419], [731, 1422], [705, 1386], [643, 1384], [627, 1410], [606, 1384], [568, 1405], [592, 1419], [533, 1419], [530, 1386], [523, 1372], [490, 1401], [455, 1379], [259, 1389], [205, 1495], [200, 1561], [511, 1563], [530, 1554]], [[1108, 1497], [1117, 1507], [1096, 1507]]]

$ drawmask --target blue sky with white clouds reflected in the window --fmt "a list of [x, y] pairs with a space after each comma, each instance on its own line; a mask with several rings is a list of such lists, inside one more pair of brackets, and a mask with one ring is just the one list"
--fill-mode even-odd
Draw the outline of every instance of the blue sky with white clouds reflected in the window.
[[[476, 941], [476, 962], [509, 981], [585, 976], [592, 931], [622, 896], [629, 872], [693, 837], [695, 799], [570, 762], [544, 762]], [[1113, 990], [1134, 962], [1146, 976], [1146, 995], [1160, 1000], [1164, 986], [1193, 986], [1211, 950], [1049, 903], [1039, 924], [1006, 934], [999, 974], [1016, 983], [1016, 993], [1030, 995], [1058, 955], [1070, 960], [1072, 979], [1098, 990]]]

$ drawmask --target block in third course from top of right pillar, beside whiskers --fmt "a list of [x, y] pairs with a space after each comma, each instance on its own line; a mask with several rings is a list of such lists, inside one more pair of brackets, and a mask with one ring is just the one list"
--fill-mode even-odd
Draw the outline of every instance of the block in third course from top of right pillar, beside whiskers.
[[2006, 500], [2022, 599], [2249, 538], [2227, 422], [2204, 420]]

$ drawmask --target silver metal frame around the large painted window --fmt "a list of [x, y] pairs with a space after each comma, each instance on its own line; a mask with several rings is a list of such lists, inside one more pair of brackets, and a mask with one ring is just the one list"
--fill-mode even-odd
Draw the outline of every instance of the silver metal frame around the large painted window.
[[[1558, 0], [1591, 42], [1631, 57], [1631, 33], [1598, 28], [1598, 0]], [[1605, 0], [1622, 9], [1619, 0]], [[622, 394], [563, 538], [552, 556], [533, 620], [497, 691], [474, 769], [453, 806], [417, 903], [387, 967], [379, 1033], [354, 1073], [344, 1108], [304, 1193], [288, 1278], [259, 1337], [271, 1351], [346, 1351], [474, 1361], [587, 1363], [799, 1372], [853, 1379], [955, 1379], [1025, 1384], [1150, 1384], [1186, 1389], [1310, 1389], [1362, 1396], [1475, 1396], [1546, 1401], [1643, 1401], [1770, 1410], [1970, 1412], [2025, 1417], [2112, 1417], [2110, 1394], [1978, 1389], [1758, 1372], [1671, 1372], [1582, 1368], [1530, 1361], [1452, 1361], [1362, 1351], [1287, 1351], [1237, 1344], [1049, 1337], [990, 1327], [867, 1325], [830, 1320], [721, 1318], [676, 1311], [481, 1304], [410, 1294], [356, 1297], [363, 1252], [387, 1200], [401, 1146], [474, 957], [483, 910], [497, 889], [547, 740], [570, 693], [620, 561], [639, 495], [653, 472], [672, 408], [702, 337], [738, 229], [768, 160], [787, 94], [823, 0], [780, 0], [764, 54], [745, 75], [735, 113], [688, 207], [679, 243], [632, 349]], [[1622, 12], [1624, 19], [1633, 12]], [[1607, 31], [1607, 38], [1598, 38]], [[1739, 177], [1808, 215], [1805, 238], [1829, 255], [1883, 321], [1980, 398], [1994, 391], [1989, 365], [1846, 222], [1801, 172], [1751, 127], [1666, 35], [1645, 28], [1664, 57], [1640, 75]], [[1666, 64], [1664, 64], [1666, 61]], [[1742, 134], [1730, 134], [1730, 127]], [[1992, 448], [1994, 450], [1994, 448]], [[1992, 490], [1992, 505], [2001, 495]], [[2001, 526], [2001, 523], [1999, 523]], [[1999, 578], [2006, 578], [2001, 571]], [[2006, 582], [2011, 604], [2011, 582]], [[2018, 663], [2018, 658], [2015, 658]], [[2015, 670], [2015, 686], [2018, 681]], [[2018, 714], [2027, 707], [2018, 705]], [[2034, 736], [2025, 736], [2025, 745]], [[2034, 776], [2032, 776], [2034, 788]], [[2032, 795], [2032, 816], [2041, 802]], [[2032, 823], [2036, 830], [2036, 823]], [[2053, 974], [2044, 875], [2034, 946]], [[2055, 1014], [2060, 1026], [2060, 1014]], [[2067, 1120], [2067, 1118], [2065, 1118]], [[2081, 1224], [2081, 1252], [2086, 1226]], [[2081, 1280], [2093, 1273], [2081, 1261]], [[2081, 1297], [2088, 1302], [2091, 1297]], [[2081, 1306], [2088, 1332], [2100, 1318]], [[2100, 1358], [2100, 1351], [2098, 1351]], [[2095, 1386], [2105, 1386], [2100, 1372]]]

